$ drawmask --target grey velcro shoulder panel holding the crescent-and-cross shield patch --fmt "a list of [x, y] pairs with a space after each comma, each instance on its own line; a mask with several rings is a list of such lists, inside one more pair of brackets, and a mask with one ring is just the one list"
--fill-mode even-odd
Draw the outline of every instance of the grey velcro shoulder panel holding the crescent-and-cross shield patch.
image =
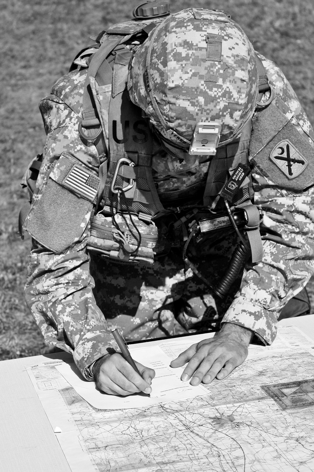
[[249, 159], [266, 180], [288, 191], [300, 191], [314, 182], [314, 148], [291, 123], [291, 116], [274, 103], [256, 114]]

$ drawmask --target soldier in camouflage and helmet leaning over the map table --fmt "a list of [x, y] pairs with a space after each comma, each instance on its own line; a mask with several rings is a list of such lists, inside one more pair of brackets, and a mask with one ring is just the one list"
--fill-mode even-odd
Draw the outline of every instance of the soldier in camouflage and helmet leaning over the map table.
[[314, 267], [314, 134], [290, 84], [223, 12], [158, 8], [99, 34], [40, 102], [47, 141], [24, 178], [40, 167], [27, 304], [114, 395], [149, 393], [154, 372], [111, 329], [220, 328], [171, 365], [224, 379], [279, 316], [308, 312], [287, 303]]

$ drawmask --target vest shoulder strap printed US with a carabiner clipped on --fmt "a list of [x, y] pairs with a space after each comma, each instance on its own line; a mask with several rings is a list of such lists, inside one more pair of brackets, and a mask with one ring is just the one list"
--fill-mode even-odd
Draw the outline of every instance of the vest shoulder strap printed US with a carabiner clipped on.
[[[151, 219], [164, 211], [152, 175], [153, 136], [142, 110], [129, 99], [128, 65], [132, 52], [116, 51], [109, 104], [109, 169], [105, 209], [130, 211]], [[132, 182], [132, 184], [131, 184]], [[121, 197], [121, 198], [120, 198]]]

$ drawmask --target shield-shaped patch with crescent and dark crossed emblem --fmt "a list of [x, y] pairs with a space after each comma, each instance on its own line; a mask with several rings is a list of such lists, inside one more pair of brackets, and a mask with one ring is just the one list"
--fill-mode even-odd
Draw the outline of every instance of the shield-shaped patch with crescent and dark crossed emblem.
[[302, 174], [308, 164], [306, 158], [288, 139], [276, 144], [269, 157], [289, 179]]

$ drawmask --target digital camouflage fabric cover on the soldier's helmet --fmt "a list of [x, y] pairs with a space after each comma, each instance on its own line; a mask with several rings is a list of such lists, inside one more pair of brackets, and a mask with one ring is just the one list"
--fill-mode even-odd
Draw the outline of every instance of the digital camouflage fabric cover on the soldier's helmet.
[[253, 46], [222, 12], [170, 15], [138, 46], [129, 70], [131, 101], [173, 143], [189, 143], [196, 123], [216, 121], [220, 143], [253, 115], [258, 72]]

